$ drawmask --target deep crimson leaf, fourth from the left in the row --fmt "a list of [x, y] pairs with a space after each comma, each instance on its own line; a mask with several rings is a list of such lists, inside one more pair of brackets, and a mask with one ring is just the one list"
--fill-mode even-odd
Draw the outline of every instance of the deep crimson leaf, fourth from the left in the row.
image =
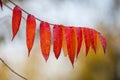
[[62, 26], [61, 25], [55, 25], [53, 27], [53, 50], [56, 59], [58, 59], [61, 48], [62, 48], [62, 40], [63, 40], [63, 33], [62, 33]]

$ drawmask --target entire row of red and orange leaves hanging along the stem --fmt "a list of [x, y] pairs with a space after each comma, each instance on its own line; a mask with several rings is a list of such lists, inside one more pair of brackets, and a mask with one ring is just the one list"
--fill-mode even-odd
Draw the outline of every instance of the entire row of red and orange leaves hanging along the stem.
[[[2, 2], [0, 0], [0, 6], [2, 8]], [[12, 15], [12, 39], [16, 36], [19, 31], [20, 23], [22, 18], [22, 10], [20, 7], [15, 6]], [[50, 29], [50, 26], [53, 29]], [[47, 61], [50, 55], [51, 43], [53, 40], [53, 51], [56, 59], [59, 58], [61, 50], [65, 56], [68, 56], [71, 63], [74, 64], [74, 60], [78, 57], [82, 42], [85, 42], [86, 55], [89, 53], [90, 47], [96, 53], [97, 51], [97, 41], [100, 40], [104, 53], [106, 52], [106, 40], [104, 36], [94, 29], [87, 27], [74, 27], [74, 26], [64, 26], [59, 24], [50, 24], [45, 21], [40, 22], [39, 27], [40, 33], [40, 47], [42, 54]], [[36, 33], [36, 17], [28, 14], [26, 19], [26, 44], [28, 48], [28, 55], [34, 44]], [[51, 35], [53, 34], [53, 39]], [[84, 41], [83, 41], [84, 40]]]

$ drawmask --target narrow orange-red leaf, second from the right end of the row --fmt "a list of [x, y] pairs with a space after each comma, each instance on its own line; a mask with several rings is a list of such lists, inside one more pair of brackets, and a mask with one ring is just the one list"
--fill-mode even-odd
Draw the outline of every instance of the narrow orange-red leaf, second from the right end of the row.
[[91, 44], [92, 44], [92, 48], [94, 49], [95, 53], [96, 53], [96, 49], [97, 49], [97, 32], [96, 30], [90, 29], [91, 32]]

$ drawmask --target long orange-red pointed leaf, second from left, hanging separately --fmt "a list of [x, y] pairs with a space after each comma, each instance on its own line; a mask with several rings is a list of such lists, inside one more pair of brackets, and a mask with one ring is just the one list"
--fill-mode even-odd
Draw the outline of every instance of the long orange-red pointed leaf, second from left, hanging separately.
[[35, 33], [36, 33], [35, 17], [29, 14], [26, 20], [26, 43], [28, 48], [28, 56], [30, 55], [30, 51], [33, 47]]

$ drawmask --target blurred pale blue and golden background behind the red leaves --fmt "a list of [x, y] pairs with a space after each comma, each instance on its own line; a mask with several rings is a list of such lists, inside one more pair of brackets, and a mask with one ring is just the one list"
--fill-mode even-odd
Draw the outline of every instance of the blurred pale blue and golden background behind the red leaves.
[[[7, 0], [3, 0], [11, 8]], [[0, 9], [0, 57], [17, 73], [28, 80], [120, 80], [120, 0], [12, 0], [36, 17], [55, 24], [94, 28], [107, 39], [104, 55], [99, 44], [97, 54], [90, 49], [85, 56], [82, 46], [80, 55], [72, 67], [63, 51], [58, 60], [51, 53], [46, 63], [39, 46], [39, 24], [31, 51], [27, 55], [25, 20], [15, 39], [11, 41], [12, 11]], [[26, 18], [27, 15], [23, 13]], [[52, 28], [52, 26], [51, 26]], [[84, 45], [84, 43], [83, 43]], [[0, 80], [23, 80], [12, 73], [0, 61]]]

